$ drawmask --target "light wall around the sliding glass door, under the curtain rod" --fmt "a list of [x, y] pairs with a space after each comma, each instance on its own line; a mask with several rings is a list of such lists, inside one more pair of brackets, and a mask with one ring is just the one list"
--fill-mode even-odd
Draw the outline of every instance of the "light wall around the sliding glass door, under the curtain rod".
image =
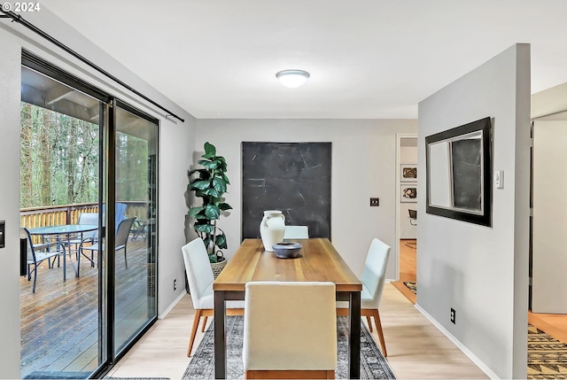
[[[3, 163], [0, 165], [0, 220], [6, 221], [6, 248], [0, 250], [0, 305], [4, 307], [0, 316], [0, 378], [19, 378], [19, 99], [22, 47], [159, 120], [159, 313], [183, 292], [184, 268], [180, 250], [185, 243], [187, 206], [184, 193], [195, 138], [194, 118], [188, 112], [152, 89], [89, 40], [77, 35], [49, 10], [43, 8], [41, 15], [29, 13], [26, 19], [186, 121], [175, 125], [165, 119], [164, 112], [45, 43], [18, 23], [0, 23], [0, 161]], [[173, 291], [174, 278], [177, 278], [178, 284], [176, 291]]]

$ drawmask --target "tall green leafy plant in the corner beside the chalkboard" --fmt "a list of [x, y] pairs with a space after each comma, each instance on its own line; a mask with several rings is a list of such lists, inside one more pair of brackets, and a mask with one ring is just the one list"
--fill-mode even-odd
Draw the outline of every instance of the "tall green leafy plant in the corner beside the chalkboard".
[[189, 172], [189, 190], [195, 191], [195, 197], [203, 199], [203, 205], [190, 207], [189, 216], [195, 219], [193, 229], [205, 242], [209, 260], [218, 262], [224, 260], [220, 250], [227, 248], [227, 237], [216, 223], [221, 211], [232, 209], [223, 197], [230, 184], [226, 175], [227, 162], [224, 157], [216, 155], [216, 148], [208, 142], [201, 158], [198, 163], [204, 168]]

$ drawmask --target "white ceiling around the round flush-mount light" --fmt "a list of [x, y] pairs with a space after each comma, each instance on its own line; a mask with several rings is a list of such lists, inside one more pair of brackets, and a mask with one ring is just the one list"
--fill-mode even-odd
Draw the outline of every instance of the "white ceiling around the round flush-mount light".
[[[514, 43], [532, 93], [567, 82], [565, 0], [43, 0], [198, 119], [414, 119]], [[276, 81], [307, 70], [299, 89]]]

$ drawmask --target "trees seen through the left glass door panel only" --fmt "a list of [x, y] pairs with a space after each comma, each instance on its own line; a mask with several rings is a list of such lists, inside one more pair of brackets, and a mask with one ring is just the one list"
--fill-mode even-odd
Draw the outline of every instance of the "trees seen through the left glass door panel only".
[[20, 123], [20, 206], [97, 202], [97, 124], [25, 102]]

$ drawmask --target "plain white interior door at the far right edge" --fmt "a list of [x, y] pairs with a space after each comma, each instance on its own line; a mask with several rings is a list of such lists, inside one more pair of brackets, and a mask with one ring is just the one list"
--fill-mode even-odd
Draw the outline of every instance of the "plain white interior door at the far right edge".
[[567, 121], [533, 126], [532, 312], [567, 314]]

